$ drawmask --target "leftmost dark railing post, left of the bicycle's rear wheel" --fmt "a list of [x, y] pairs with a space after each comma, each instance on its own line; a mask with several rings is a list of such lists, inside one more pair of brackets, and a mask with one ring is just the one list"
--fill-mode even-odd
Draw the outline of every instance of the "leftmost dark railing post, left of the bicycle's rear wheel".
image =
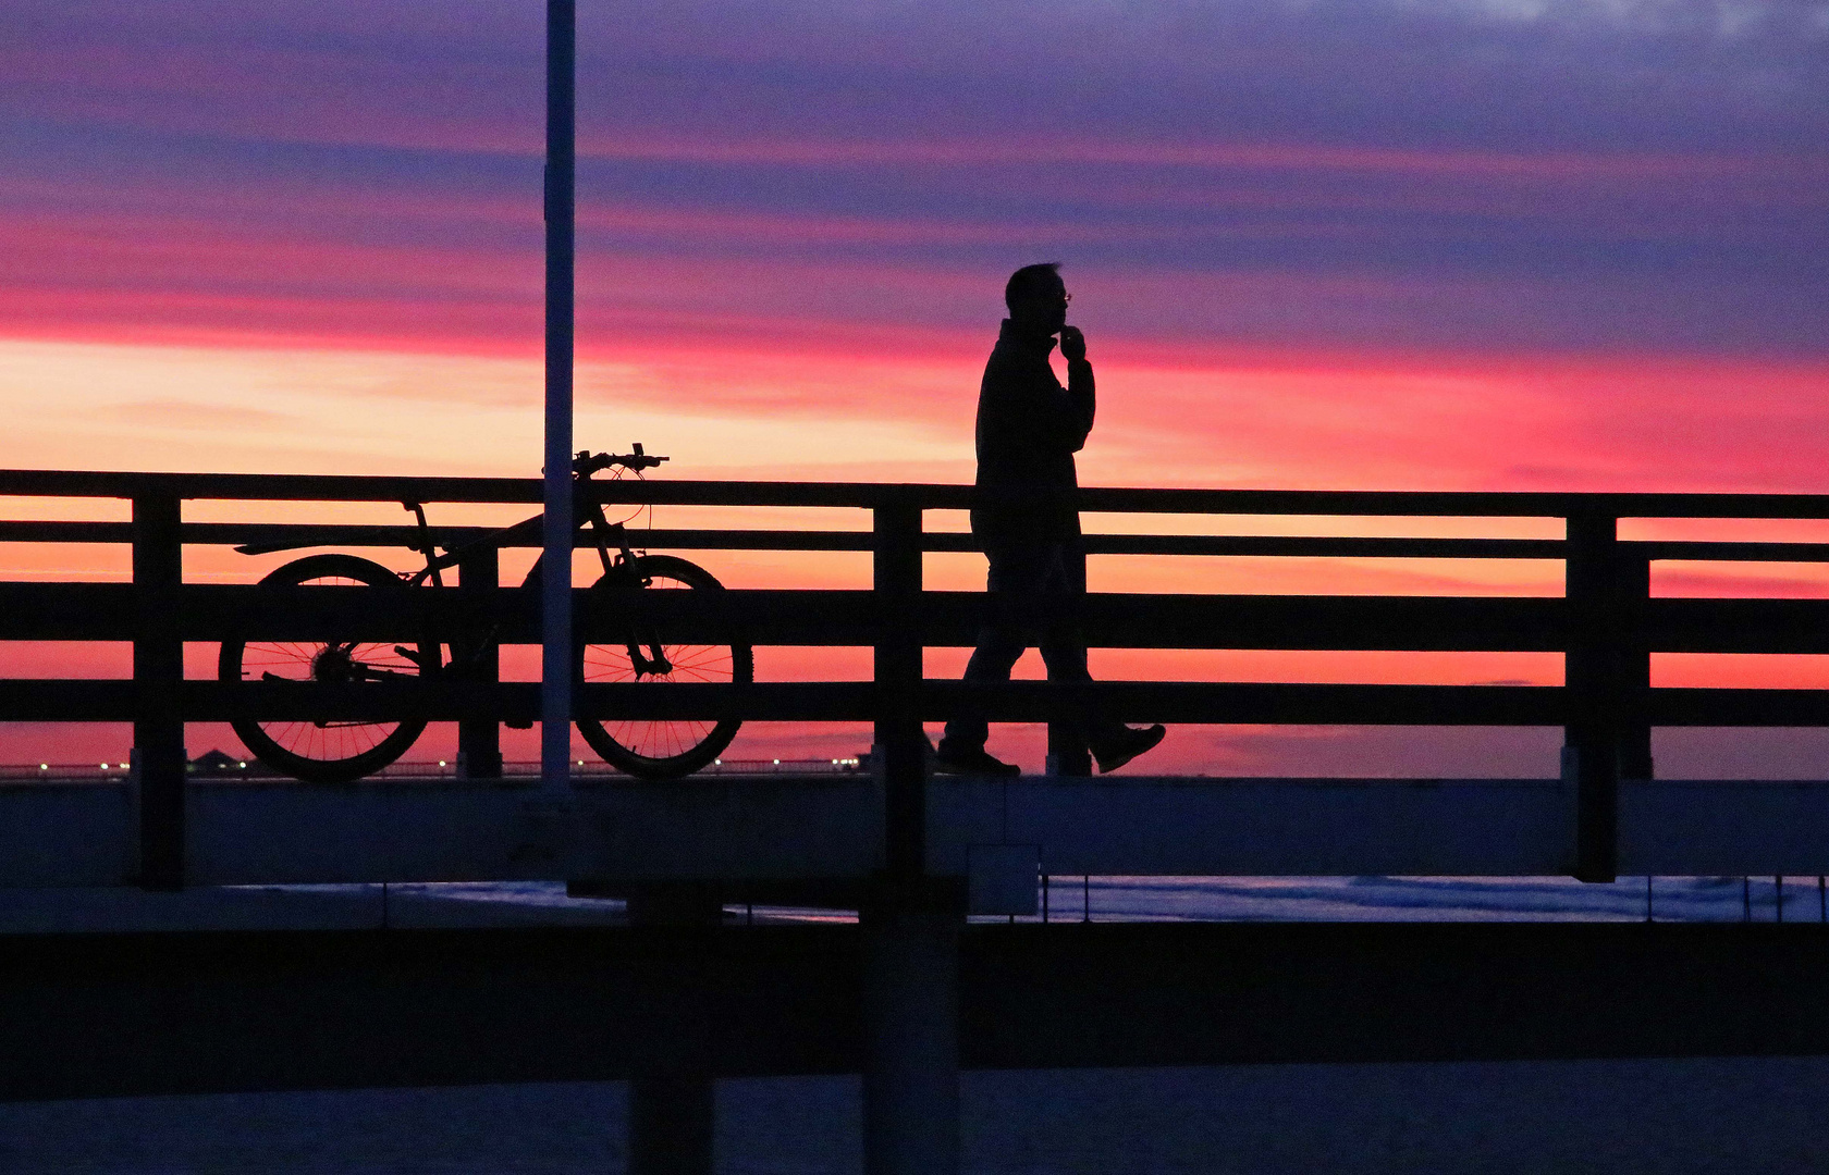
[[177, 691], [185, 645], [181, 506], [174, 493], [134, 497], [134, 782], [139, 793], [139, 883], [185, 888], [185, 718]]

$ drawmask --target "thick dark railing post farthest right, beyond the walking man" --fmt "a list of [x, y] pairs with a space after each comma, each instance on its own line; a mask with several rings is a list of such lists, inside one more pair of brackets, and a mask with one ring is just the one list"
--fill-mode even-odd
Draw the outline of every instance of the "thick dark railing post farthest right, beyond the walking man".
[[[1641, 764], [1628, 729], [1641, 691], [1628, 680], [1628, 641], [1635, 640], [1626, 596], [1637, 583], [1619, 550], [1619, 519], [1582, 513], [1567, 519], [1566, 596], [1571, 641], [1564, 660], [1569, 718], [1562, 775], [1575, 786], [1575, 877], [1613, 881], [1619, 872], [1619, 778]], [[1630, 696], [1628, 696], [1630, 694]], [[1646, 729], [1644, 742], [1650, 742]], [[1626, 762], [1631, 758], [1633, 762]], [[1650, 758], [1646, 747], [1644, 760]]]

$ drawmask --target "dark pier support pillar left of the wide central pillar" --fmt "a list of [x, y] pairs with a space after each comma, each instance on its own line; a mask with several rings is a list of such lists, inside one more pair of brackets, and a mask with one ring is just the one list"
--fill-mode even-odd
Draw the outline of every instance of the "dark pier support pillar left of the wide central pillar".
[[[636, 926], [717, 928], [724, 906], [702, 894], [642, 894], [629, 897]], [[704, 1025], [680, 1025], [702, 1034]], [[682, 1040], [680, 1056], [702, 1056], [702, 1040]], [[711, 1175], [717, 1142], [717, 1080], [702, 1069], [640, 1073], [629, 1080], [629, 1175]]]

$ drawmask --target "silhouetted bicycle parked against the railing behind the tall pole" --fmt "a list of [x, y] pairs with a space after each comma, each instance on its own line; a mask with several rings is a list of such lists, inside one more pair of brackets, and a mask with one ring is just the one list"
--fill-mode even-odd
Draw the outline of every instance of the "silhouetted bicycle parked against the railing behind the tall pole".
[[[604, 504], [583, 493], [593, 473], [618, 470], [642, 475], [664, 462], [636, 444], [633, 453], [582, 451], [572, 460], [578, 528], [589, 528], [602, 577], [587, 596], [591, 607], [604, 609], [624, 625], [618, 643], [574, 641], [572, 663], [578, 682], [726, 682], [755, 678], [755, 654], [741, 640], [728, 645], [669, 643], [642, 619], [642, 594], [653, 590], [719, 592], [722, 585], [697, 563], [675, 556], [651, 556], [629, 546], [626, 523], [611, 523]], [[262, 587], [358, 585], [377, 590], [408, 590], [426, 583], [444, 587], [443, 572], [490, 546], [538, 545], [545, 515], [494, 530], [439, 554], [421, 503], [402, 503], [417, 519], [421, 541], [415, 545], [426, 565], [415, 572], [393, 572], [380, 563], [349, 554], [315, 554], [294, 559], [267, 574]], [[532, 539], [532, 543], [529, 543]], [[251, 543], [240, 554], [271, 554], [313, 543]], [[615, 556], [613, 556], [615, 552]], [[534, 561], [523, 592], [540, 598], [541, 563]], [[439, 634], [421, 625], [413, 645], [384, 641], [256, 641], [227, 640], [218, 658], [223, 682], [412, 682], [435, 674], [474, 672], [499, 649], [499, 625], [487, 632]], [[450, 649], [450, 660], [444, 658]], [[258, 674], [258, 678], [256, 678]], [[349, 782], [373, 775], [395, 762], [426, 729], [424, 720], [298, 720], [263, 722], [238, 718], [234, 733], [267, 767], [307, 782]], [[516, 724], [519, 725], [519, 724]], [[529, 724], [530, 725], [530, 724]], [[710, 720], [605, 720], [576, 718], [578, 733], [613, 767], [640, 778], [680, 778], [711, 764], [743, 725], [739, 718]]]

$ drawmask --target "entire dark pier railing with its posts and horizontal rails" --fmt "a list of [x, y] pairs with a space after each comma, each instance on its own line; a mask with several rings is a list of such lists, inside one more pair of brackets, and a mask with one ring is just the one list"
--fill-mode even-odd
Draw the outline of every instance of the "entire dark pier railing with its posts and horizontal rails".
[[[538, 504], [534, 479], [320, 477], [252, 473], [0, 471], [0, 497], [124, 499], [132, 521], [0, 519], [0, 543], [97, 543], [132, 550], [132, 581], [0, 579], [0, 640], [132, 641], [130, 680], [0, 680], [0, 720], [132, 722], [148, 884], [183, 879], [183, 724], [225, 718], [455, 720], [461, 744], [490, 747], [496, 724], [538, 713], [538, 687], [455, 676], [393, 683], [201, 682], [183, 678], [185, 641], [410, 640], [428, 627], [488, 627], [536, 643], [538, 601], [496, 583], [494, 559], [459, 587], [373, 592], [185, 583], [187, 545], [256, 552], [463, 548], [490, 528], [185, 521], [187, 501]], [[1650, 778], [1652, 725], [1829, 725], [1829, 691], [1653, 689], [1653, 652], [1829, 652], [1829, 599], [1652, 598], [1650, 565], [1829, 563], [1829, 543], [1620, 539], [1620, 519], [1829, 519], [1829, 495], [1461, 493], [1333, 490], [1088, 488], [1085, 515], [1306, 515], [1352, 530], [1364, 519], [1536, 519], [1562, 537], [1353, 534], [1086, 535], [1088, 554], [1271, 559], [1514, 559], [1564, 565], [1564, 594], [1264, 596], [1090, 594], [1075, 609], [1088, 643], [1132, 649], [1560, 652], [1562, 685], [1332, 685], [1101, 682], [964, 685], [924, 680], [922, 649], [971, 645], [980, 592], [922, 590], [922, 554], [969, 552], [958, 530], [925, 530], [925, 512], [969, 510], [971, 486], [874, 482], [618, 481], [589, 493], [611, 504], [849, 508], [871, 528], [631, 528], [642, 550], [869, 552], [869, 590], [662, 592], [653, 616], [690, 641], [867, 645], [871, 682], [746, 685], [585, 685], [580, 715], [737, 716], [872, 722], [885, 788], [885, 859], [916, 870], [924, 795], [922, 722], [980, 711], [993, 720], [1063, 722], [1090, 705], [1127, 720], [1249, 724], [1562, 725], [1577, 793], [1577, 875], [1610, 877], [1617, 782]], [[4, 508], [0, 508], [4, 512]], [[1359, 519], [1359, 523], [1355, 523]], [[955, 523], [957, 524], [957, 523]], [[1310, 523], [1310, 528], [1313, 523]], [[530, 532], [497, 537], [532, 546]], [[580, 545], [589, 545], [580, 535]], [[488, 546], [485, 543], [485, 546]], [[470, 570], [470, 568], [466, 568]], [[611, 630], [578, 588], [583, 640]], [[1041, 612], [1037, 618], [1043, 618]], [[483, 755], [487, 760], [487, 753]], [[496, 753], [499, 760], [499, 751]], [[1072, 767], [1068, 767], [1072, 769]]]

